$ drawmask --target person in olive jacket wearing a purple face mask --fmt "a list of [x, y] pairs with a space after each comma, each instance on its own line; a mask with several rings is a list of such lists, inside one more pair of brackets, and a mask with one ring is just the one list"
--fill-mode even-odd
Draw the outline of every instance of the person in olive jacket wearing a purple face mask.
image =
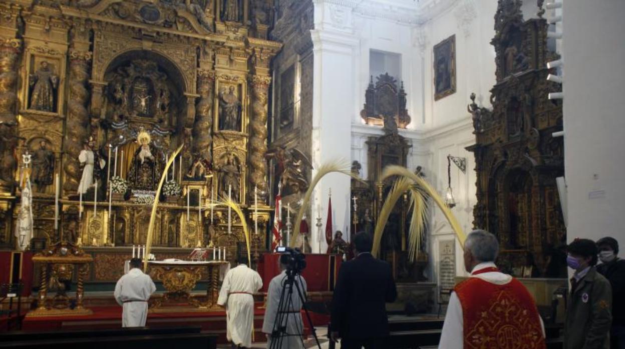
[[597, 245], [576, 238], [567, 247], [566, 263], [574, 270], [564, 322], [564, 349], [609, 349], [612, 290], [597, 273]]

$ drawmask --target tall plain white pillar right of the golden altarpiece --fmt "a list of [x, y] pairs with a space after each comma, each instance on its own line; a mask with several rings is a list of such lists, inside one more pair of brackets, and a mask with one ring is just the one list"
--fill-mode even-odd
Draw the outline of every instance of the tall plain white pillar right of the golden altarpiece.
[[[311, 31], [314, 45], [314, 77], [312, 106], [312, 164], [316, 169], [324, 162], [343, 159], [351, 163], [351, 124], [354, 120], [354, 91], [358, 74], [354, 56], [359, 53], [359, 41], [352, 35], [352, 9], [339, 4], [314, 2], [315, 30]], [[327, 194], [332, 188], [333, 230], [345, 232], [350, 222], [350, 178], [343, 174], [329, 174], [317, 185], [311, 200], [312, 250], [319, 250], [316, 227], [317, 205], [321, 208], [322, 223], [327, 217]], [[322, 229], [324, 234], [325, 229]], [[346, 232], [343, 235], [349, 238]], [[327, 248], [321, 238], [321, 250]]]

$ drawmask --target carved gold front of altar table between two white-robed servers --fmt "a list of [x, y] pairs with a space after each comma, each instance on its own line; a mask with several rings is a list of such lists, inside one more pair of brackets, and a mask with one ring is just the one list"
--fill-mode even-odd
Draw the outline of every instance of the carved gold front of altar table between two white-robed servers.
[[[166, 290], [163, 297], [150, 300], [149, 312], [209, 312], [221, 310], [217, 306], [219, 296], [219, 275], [225, 275], [229, 263], [226, 261], [150, 261], [148, 273], [155, 281], [163, 283]], [[207, 275], [206, 299], [193, 297], [191, 291], [201, 280], [202, 272]], [[181, 303], [184, 302], [184, 303]]]

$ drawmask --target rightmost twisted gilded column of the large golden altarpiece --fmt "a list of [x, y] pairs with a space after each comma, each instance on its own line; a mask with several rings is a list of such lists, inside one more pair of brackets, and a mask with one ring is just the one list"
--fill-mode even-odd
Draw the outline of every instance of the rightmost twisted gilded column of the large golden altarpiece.
[[[264, 158], [267, 152], [267, 94], [271, 77], [252, 76], [252, 115], [250, 119], [251, 137], [249, 138], [249, 180], [252, 187], [258, 187], [259, 197], [267, 203], [267, 162]], [[251, 201], [254, 200], [254, 189], [249, 190]]]

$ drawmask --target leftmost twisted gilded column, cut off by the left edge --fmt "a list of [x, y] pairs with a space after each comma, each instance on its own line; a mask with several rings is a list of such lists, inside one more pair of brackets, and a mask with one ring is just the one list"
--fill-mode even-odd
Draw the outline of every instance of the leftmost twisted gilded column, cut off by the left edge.
[[19, 39], [0, 38], [0, 189], [11, 192], [16, 166], [14, 150], [17, 147], [17, 120], [15, 103], [17, 102], [17, 57], [21, 49]]

